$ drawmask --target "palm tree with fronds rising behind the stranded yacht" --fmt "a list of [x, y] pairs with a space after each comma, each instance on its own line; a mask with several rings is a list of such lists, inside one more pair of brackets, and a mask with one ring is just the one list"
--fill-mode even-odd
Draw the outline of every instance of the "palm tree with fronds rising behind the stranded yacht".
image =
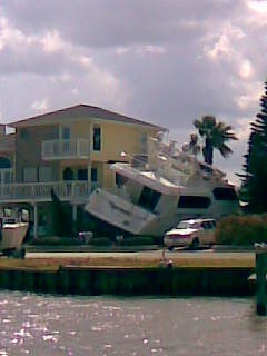
[[238, 139], [231, 131], [231, 126], [217, 121], [211, 115], [204, 116], [201, 120], [195, 120], [194, 125], [199, 135], [205, 137], [202, 154], [206, 164], [212, 165], [215, 148], [220, 151], [222, 157], [228, 157], [233, 154], [233, 150], [226, 145], [229, 140]]

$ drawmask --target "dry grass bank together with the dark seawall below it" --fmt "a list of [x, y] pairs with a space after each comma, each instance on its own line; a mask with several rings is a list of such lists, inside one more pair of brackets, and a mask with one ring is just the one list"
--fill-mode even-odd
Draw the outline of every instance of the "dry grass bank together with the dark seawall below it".
[[[106, 258], [105, 253], [101, 257], [91, 255], [2, 258], [0, 288], [87, 296], [233, 297], [255, 294], [255, 283], [248, 279], [255, 271], [255, 254], [251, 253], [236, 253], [231, 258], [225, 253], [204, 256], [168, 253], [165, 260], [154, 254], [147, 258], [135, 253], [126, 257], [118, 253]], [[170, 258], [171, 264], [168, 264]]]

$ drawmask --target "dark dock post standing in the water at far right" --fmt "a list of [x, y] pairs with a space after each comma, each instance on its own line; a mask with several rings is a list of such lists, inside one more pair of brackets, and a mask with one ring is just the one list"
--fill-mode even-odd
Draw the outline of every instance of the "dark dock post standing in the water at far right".
[[267, 249], [256, 251], [256, 298], [257, 315], [267, 315], [267, 290], [266, 290], [266, 273], [267, 273]]

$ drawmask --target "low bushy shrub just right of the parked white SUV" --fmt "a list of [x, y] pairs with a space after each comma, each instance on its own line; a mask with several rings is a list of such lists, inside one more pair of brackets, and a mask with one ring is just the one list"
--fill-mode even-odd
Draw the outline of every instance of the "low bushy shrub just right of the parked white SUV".
[[267, 243], [267, 215], [221, 218], [217, 222], [216, 241], [224, 245]]

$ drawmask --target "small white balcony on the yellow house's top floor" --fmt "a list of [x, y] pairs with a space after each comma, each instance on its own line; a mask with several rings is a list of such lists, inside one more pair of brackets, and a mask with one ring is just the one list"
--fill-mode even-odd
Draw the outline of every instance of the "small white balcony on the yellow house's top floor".
[[90, 141], [89, 139], [81, 138], [42, 141], [41, 155], [43, 160], [88, 159], [90, 155]]

